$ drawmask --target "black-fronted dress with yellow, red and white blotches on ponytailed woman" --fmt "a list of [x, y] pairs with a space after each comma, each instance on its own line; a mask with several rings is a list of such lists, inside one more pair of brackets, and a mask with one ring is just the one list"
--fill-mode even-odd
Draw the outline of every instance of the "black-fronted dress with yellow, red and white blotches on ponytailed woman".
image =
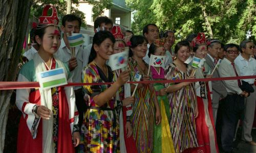
[[[83, 83], [113, 82], [113, 72], [108, 67], [108, 76], [96, 65], [95, 61], [84, 67]], [[84, 115], [81, 131], [84, 136], [84, 152], [119, 152], [119, 124], [117, 119], [116, 100], [110, 99], [99, 107], [93, 97], [97, 96], [110, 85], [83, 86], [84, 93], [89, 95], [89, 109]]]

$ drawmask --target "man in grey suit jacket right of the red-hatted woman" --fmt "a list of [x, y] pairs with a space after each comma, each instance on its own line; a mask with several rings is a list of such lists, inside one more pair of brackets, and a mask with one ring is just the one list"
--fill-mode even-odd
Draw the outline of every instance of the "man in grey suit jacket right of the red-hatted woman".
[[[208, 53], [205, 57], [206, 63], [209, 65], [212, 71], [217, 64], [218, 53], [221, 49], [221, 42], [217, 39], [210, 40], [210, 44], [207, 47]], [[213, 73], [213, 78], [220, 78], [218, 69]], [[219, 101], [227, 96], [227, 90], [222, 81], [212, 81], [212, 111], [214, 114], [214, 120], [216, 124], [217, 112], [219, 108]]]

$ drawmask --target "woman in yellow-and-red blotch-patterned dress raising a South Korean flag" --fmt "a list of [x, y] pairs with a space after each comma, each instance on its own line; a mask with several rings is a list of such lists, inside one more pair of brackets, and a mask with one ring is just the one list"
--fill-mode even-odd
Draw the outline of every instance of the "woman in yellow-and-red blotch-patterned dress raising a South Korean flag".
[[[89, 64], [83, 68], [83, 83], [113, 82], [113, 72], [106, 60], [113, 54], [114, 36], [108, 31], [97, 32], [93, 37], [93, 47]], [[129, 79], [129, 70], [119, 74], [112, 85], [85, 85], [84, 93], [89, 95], [89, 109], [84, 115], [85, 152], [119, 152], [119, 124], [114, 98], [118, 89]]]

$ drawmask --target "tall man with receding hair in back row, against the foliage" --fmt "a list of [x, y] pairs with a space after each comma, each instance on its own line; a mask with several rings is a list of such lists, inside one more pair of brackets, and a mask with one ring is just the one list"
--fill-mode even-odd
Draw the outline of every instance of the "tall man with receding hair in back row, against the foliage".
[[159, 29], [157, 28], [157, 25], [154, 23], [147, 24], [143, 28], [143, 36], [147, 40], [147, 51], [143, 60], [148, 64], [150, 63], [150, 57], [148, 57], [148, 48], [150, 48], [150, 45], [159, 37]]

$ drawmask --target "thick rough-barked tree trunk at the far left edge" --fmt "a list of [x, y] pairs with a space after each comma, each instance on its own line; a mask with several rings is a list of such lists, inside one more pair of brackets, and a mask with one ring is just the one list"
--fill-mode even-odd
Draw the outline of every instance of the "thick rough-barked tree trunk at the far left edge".
[[[0, 2], [0, 82], [15, 81], [32, 0]], [[12, 90], [0, 90], [0, 152], [4, 150]]]

